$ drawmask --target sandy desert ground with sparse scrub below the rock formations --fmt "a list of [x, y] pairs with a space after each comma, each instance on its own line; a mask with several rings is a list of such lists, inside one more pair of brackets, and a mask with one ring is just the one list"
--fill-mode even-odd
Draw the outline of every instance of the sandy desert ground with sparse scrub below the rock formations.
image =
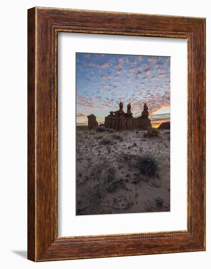
[[[77, 127], [76, 215], [170, 211], [170, 132], [101, 132]], [[108, 137], [108, 145], [102, 144]], [[149, 176], [138, 165], [151, 153], [159, 165]]]

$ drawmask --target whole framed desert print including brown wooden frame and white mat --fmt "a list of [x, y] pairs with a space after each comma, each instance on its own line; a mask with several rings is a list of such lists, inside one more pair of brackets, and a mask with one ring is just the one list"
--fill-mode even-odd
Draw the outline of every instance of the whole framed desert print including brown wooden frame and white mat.
[[205, 19], [28, 10], [28, 259], [205, 250]]

